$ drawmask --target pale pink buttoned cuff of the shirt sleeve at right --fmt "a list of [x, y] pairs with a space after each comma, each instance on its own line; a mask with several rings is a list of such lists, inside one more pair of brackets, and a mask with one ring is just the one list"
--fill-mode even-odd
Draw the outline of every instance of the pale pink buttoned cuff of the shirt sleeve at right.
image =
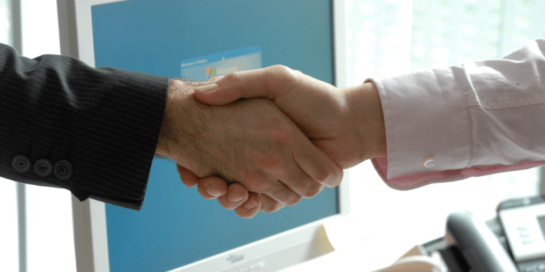
[[[463, 75], [462, 67], [442, 67], [367, 79], [377, 86], [384, 112], [388, 158], [373, 160], [375, 167], [387, 165], [377, 168], [382, 177], [429, 175], [469, 165], [469, 116], [459, 90], [467, 80], [457, 78]], [[430, 159], [435, 160], [432, 167], [425, 164]], [[461, 179], [455, 172], [447, 176]]]

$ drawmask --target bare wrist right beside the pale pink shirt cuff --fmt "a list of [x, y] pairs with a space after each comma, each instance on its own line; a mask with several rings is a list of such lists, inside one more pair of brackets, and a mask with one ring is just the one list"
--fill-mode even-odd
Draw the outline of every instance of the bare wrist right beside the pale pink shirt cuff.
[[360, 160], [386, 157], [386, 128], [377, 87], [368, 81], [362, 85], [344, 89], [350, 121], [348, 130], [361, 143], [358, 147]]

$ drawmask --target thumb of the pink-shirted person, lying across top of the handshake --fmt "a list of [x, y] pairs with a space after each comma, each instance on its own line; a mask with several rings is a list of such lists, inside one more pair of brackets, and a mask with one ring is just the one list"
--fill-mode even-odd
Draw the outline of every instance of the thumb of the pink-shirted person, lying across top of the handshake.
[[209, 105], [226, 105], [241, 98], [267, 97], [277, 94], [275, 81], [268, 70], [257, 69], [229, 73], [215, 83], [195, 88], [195, 98]]

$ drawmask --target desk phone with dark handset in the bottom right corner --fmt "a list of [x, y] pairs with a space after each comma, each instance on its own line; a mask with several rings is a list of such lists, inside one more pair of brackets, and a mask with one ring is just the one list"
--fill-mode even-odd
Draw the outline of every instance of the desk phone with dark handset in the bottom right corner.
[[483, 222], [451, 213], [444, 238], [422, 245], [440, 252], [449, 272], [545, 272], [545, 196], [510, 199]]

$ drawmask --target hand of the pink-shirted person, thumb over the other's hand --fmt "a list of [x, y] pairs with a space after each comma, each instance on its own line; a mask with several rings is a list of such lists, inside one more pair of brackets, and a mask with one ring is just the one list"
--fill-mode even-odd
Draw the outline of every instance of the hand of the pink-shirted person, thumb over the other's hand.
[[210, 105], [267, 97], [344, 169], [386, 156], [384, 117], [370, 82], [341, 89], [285, 66], [270, 66], [230, 73], [195, 89], [195, 97]]

